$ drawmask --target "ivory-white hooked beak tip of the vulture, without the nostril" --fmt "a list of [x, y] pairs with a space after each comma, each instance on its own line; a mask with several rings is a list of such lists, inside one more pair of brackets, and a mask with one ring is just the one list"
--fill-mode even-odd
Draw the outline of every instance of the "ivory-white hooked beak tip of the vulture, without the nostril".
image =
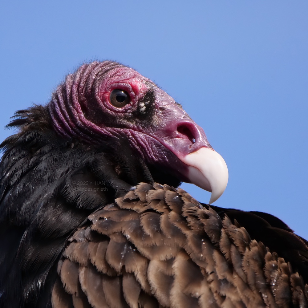
[[180, 158], [188, 166], [188, 179], [212, 193], [209, 204], [216, 201], [228, 184], [228, 168], [225, 160], [212, 148], [199, 150]]

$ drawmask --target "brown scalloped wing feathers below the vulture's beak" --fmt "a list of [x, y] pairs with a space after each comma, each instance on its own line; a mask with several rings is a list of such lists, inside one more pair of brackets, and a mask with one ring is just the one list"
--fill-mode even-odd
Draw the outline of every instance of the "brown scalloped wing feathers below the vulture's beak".
[[287, 308], [308, 300], [290, 263], [228, 216], [160, 184], [138, 184], [91, 214], [69, 239], [58, 275], [54, 308]]

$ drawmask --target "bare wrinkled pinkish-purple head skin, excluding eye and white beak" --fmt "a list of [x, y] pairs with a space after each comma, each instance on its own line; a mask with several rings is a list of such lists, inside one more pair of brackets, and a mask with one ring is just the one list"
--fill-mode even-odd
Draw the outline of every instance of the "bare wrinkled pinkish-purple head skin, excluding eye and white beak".
[[[114, 89], [126, 91], [131, 103], [122, 108], [111, 105], [109, 96]], [[151, 116], [142, 120], [150, 108], [142, 102], [148, 91], [155, 94], [154, 106]], [[203, 129], [172, 97], [116, 62], [85, 64], [68, 75], [53, 94], [49, 109], [60, 135], [77, 136], [88, 143], [126, 136], [142, 159], [169, 168], [182, 181], [189, 182], [181, 158], [201, 147], [212, 148]]]

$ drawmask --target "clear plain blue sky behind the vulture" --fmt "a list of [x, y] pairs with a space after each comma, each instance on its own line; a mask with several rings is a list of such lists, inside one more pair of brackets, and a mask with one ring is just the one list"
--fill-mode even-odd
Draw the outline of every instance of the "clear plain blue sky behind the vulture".
[[120, 61], [183, 104], [225, 158], [215, 204], [272, 213], [308, 238], [307, 16], [306, 0], [3, 1], [1, 127], [84, 61]]

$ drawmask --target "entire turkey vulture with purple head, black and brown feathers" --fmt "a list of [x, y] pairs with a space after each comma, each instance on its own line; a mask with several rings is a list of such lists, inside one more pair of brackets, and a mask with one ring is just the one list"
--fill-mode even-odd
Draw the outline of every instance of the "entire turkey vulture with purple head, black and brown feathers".
[[84, 64], [8, 127], [1, 307], [307, 306], [307, 241], [270, 214], [177, 188], [194, 183], [212, 203], [225, 162], [132, 68]]

